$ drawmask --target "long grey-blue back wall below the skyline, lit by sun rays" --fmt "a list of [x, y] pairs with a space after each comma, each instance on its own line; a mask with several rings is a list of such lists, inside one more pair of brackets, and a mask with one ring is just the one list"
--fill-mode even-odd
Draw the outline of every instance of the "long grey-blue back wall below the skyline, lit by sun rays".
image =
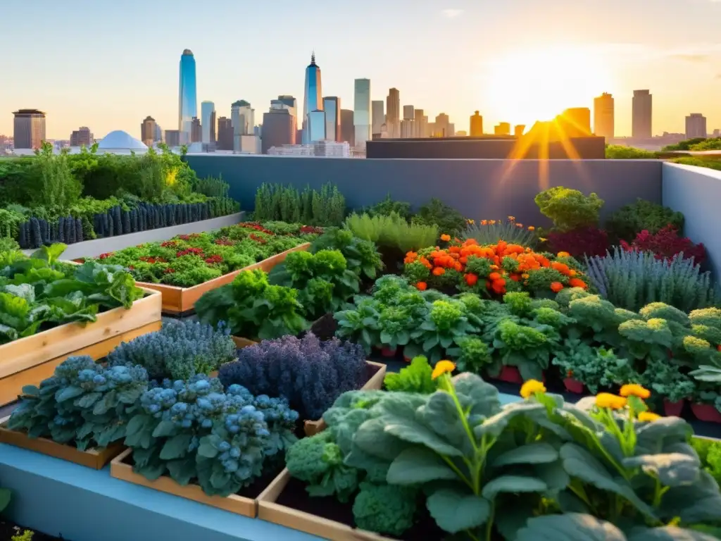
[[251, 209], [263, 182], [310, 185], [334, 182], [350, 208], [386, 194], [417, 207], [437, 197], [473, 219], [509, 214], [523, 224], [546, 225], [534, 197], [566, 186], [606, 201], [603, 214], [637, 198], [660, 203], [661, 162], [655, 160], [335, 159], [240, 155], [188, 155], [198, 176], [223, 175], [231, 197]]

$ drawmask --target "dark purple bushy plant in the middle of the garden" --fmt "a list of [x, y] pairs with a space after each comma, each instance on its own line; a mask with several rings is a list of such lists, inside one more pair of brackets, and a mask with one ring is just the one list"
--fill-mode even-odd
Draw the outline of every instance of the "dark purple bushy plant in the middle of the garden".
[[343, 392], [366, 383], [366, 356], [363, 346], [337, 338], [284, 336], [243, 348], [218, 377], [224, 387], [239, 384], [256, 395], [284, 397], [301, 418], [317, 419]]

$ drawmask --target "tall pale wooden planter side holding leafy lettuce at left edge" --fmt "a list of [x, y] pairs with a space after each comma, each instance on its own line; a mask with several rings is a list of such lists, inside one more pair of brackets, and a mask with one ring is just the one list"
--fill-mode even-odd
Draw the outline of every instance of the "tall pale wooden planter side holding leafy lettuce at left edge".
[[146, 296], [130, 309], [114, 308], [92, 323], [66, 323], [0, 346], [0, 405], [14, 400], [25, 385], [37, 385], [53, 375], [70, 356], [101, 359], [121, 342], [159, 330], [161, 295], [143, 288]]

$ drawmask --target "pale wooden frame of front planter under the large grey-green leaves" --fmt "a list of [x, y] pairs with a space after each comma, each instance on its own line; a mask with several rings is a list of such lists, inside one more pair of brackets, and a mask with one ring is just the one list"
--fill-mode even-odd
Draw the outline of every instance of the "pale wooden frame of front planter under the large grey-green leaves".
[[[388, 537], [373, 532], [355, 529], [348, 524], [324, 519], [322, 516], [275, 503], [290, 479], [291, 473], [287, 469], [283, 470], [270, 485], [267, 485], [265, 491], [260, 493], [257, 498], [259, 519], [317, 535], [330, 541], [392, 541]], [[308, 497], [310, 498], [310, 496]]]

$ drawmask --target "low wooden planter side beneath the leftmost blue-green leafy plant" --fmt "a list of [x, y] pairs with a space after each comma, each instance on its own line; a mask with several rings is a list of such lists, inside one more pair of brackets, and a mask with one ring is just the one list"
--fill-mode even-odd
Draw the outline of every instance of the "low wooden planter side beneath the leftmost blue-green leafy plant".
[[29, 451], [47, 454], [81, 466], [92, 467], [93, 470], [102, 470], [105, 465], [118, 454], [123, 452], [123, 445], [112, 445], [106, 449], [87, 449], [80, 451], [71, 445], [58, 444], [56, 441], [45, 438], [30, 438], [25, 432], [18, 432], [7, 428], [9, 417], [0, 419], [0, 443], [22, 447]]

